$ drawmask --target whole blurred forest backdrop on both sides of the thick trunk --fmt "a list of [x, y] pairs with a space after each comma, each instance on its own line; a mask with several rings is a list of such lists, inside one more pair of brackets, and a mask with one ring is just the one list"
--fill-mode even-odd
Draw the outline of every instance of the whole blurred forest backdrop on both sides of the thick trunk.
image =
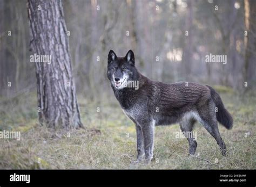
[[[0, 2], [4, 18], [0, 22], [0, 86], [1, 95], [6, 96], [8, 90], [10, 96], [33, 85], [35, 75], [33, 64], [29, 63], [26, 1]], [[132, 49], [138, 69], [154, 80], [221, 84], [235, 90], [244, 90], [246, 81], [249, 89], [255, 88], [253, 0], [63, 3], [77, 92], [86, 93], [87, 98], [99, 101], [111, 93], [106, 79], [110, 49], [117, 55]], [[11, 37], [8, 31], [12, 31]], [[227, 55], [227, 64], [206, 63], [205, 56], [210, 53]], [[13, 83], [11, 88], [8, 81]]]

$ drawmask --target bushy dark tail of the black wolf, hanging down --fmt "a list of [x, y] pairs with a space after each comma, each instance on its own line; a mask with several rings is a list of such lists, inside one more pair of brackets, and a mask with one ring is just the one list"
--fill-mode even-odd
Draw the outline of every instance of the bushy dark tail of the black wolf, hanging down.
[[225, 106], [219, 96], [219, 94], [210, 86], [206, 85], [211, 90], [211, 97], [213, 102], [218, 108], [218, 112], [216, 113], [217, 120], [221, 125], [226, 127], [228, 130], [233, 126], [233, 118], [231, 114], [225, 109]]

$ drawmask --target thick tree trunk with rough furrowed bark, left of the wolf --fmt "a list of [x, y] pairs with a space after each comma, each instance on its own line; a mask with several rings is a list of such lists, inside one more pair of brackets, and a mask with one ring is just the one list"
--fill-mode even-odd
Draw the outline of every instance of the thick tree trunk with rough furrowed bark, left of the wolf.
[[83, 127], [62, 1], [29, 0], [28, 14], [32, 53], [51, 55], [51, 63], [35, 63], [39, 121], [48, 127]]

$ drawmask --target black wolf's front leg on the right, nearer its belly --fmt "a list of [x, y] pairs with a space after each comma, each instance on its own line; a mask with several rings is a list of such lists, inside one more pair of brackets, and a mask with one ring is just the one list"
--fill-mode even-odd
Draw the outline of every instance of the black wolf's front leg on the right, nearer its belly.
[[144, 124], [142, 126], [143, 140], [144, 140], [144, 152], [146, 163], [150, 163], [153, 158], [154, 147], [154, 123]]

